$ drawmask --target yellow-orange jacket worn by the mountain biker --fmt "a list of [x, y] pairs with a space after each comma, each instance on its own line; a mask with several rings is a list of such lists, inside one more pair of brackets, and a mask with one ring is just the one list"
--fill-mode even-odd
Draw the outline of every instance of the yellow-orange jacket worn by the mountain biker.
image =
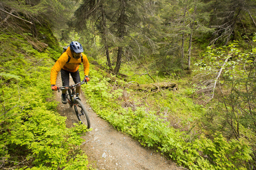
[[[83, 56], [84, 75], [88, 76], [90, 64], [86, 55], [84, 53], [81, 54]], [[68, 56], [70, 57], [69, 62]], [[60, 58], [56, 61], [51, 69], [51, 85], [56, 84], [57, 75], [61, 69], [68, 70], [70, 72], [76, 72], [79, 68], [80, 63], [82, 63], [81, 57], [79, 59], [73, 58], [71, 50], [68, 47], [67, 51], [60, 55]]]

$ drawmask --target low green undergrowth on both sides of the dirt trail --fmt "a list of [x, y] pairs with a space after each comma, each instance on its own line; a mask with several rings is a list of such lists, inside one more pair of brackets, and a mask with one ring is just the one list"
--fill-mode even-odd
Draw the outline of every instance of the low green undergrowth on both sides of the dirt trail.
[[[50, 88], [45, 88], [50, 86], [51, 58], [58, 58], [60, 53], [51, 48], [39, 53], [23, 36], [27, 35], [1, 36], [1, 167], [90, 168], [78, 147], [86, 127], [66, 129], [65, 118], [54, 111], [56, 103], [52, 102]], [[148, 75], [123, 70], [128, 74], [125, 81], [109, 83], [109, 78], [94, 70], [93, 64], [90, 68], [90, 82], [83, 88], [88, 103], [98, 115], [143, 146], [153, 147], [189, 169], [249, 167], [251, 144], [204, 128], [201, 121], [208, 111], [191, 98], [195, 89], [184, 88], [189, 85], [184, 78], [155, 74], [156, 81], [174, 81], [180, 87], [177, 91], [141, 92], [125, 85], [152, 83]]]

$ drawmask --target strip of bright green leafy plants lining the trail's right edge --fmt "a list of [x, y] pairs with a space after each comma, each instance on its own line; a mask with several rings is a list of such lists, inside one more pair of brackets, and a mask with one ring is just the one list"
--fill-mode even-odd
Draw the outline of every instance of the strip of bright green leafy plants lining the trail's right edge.
[[[82, 88], [93, 110], [117, 129], [138, 139], [142, 145], [169, 155], [178, 165], [189, 169], [246, 169], [244, 163], [252, 159], [251, 148], [243, 140], [227, 141], [220, 133], [212, 136], [212, 140], [204, 135], [189, 140], [187, 132], [170, 126], [163, 115], [156, 115], [145, 107], [123, 108], [116, 102], [117, 91], [109, 86], [108, 78], [103, 78], [93, 70], [93, 66], [90, 77], [90, 83]], [[181, 101], [184, 97], [178, 98]], [[196, 110], [201, 108], [197, 107]]]

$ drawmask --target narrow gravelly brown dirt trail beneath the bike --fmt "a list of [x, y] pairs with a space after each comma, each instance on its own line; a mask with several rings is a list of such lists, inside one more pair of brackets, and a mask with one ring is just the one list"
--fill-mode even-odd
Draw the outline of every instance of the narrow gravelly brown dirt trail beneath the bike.
[[[70, 84], [74, 84], [73, 81]], [[56, 85], [61, 86], [60, 75], [58, 75]], [[57, 108], [58, 112], [67, 117], [67, 127], [72, 127], [73, 123], [77, 122], [74, 108], [61, 103], [61, 92], [55, 92], [55, 94], [55, 99], [60, 103]], [[92, 128], [92, 131], [87, 132], [83, 137], [85, 142], [82, 148], [89, 162], [95, 165], [94, 168], [97, 170], [180, 170], [176, 164], [165, 159], [160, 153], [141, 146], [138, 141], [119, 132], [101, 119], [86, 103], [83, 94], [80, 98], [88, 109]]]

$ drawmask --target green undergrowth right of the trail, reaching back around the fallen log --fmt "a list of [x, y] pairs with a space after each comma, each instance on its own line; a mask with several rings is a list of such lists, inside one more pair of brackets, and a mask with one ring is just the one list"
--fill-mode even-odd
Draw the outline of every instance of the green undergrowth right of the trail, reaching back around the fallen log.
[[122, 79], [109, 83], [110, 79], [93, 67], [91, 64], [90, 83], [83, 92], [93, 110], [116, 129], [189, 169], [247, 169], [250, 166], [250, 143], [242, 138], [227, 139], [221, 132], [206, 129], [204, 121], [208, 111], [193, 100], [191, 96], [196, 89], [184, 78], [154, 76], [158, 82], [175, 81], [181, 87], [177, 91], [133, 91], [126, 88], [127, 82], [145, 84], [153, 83], [152, 79], [123, 70], [128, 74], [126, 83]]

